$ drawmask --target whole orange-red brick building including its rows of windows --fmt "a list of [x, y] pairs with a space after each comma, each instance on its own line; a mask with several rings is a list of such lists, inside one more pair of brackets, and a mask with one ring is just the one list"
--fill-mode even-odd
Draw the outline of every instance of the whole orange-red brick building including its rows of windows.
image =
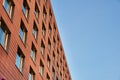
[[0, 80], [72, 80], [50, 0], [0, 0]]

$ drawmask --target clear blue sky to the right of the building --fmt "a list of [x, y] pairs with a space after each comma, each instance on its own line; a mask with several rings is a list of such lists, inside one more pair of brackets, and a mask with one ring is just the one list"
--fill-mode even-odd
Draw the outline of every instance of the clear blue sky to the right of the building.
[[120, 80], [120, 0], [51, 0], [72, 80]]

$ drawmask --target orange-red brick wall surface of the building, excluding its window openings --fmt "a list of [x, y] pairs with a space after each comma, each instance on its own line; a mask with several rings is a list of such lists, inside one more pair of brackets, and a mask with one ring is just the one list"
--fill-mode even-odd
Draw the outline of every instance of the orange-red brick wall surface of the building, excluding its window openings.
[[[14, 3], [12, 18], [10, 18], [3, 6], [4, 0], [0, 0], [0, 19], [4, 21], [10, 31], [7, 49], [4, 49], [4, 47], [0, 44], [0, 78], [3, 78], [4, 80], [29, 80], [28, 76], [30, 68], [32, 68], [34, 72], [33, 80], [47, 80], [47, 75], [49, 76], [48, 80], [72, 80], [50, 0], [8, 1], [12, 1]], [[23, 1], [26, 1], [29, 6], [28, 18], [25, 17], [22, 11]], [[35, 5], [37, 5], [36, 9], [39, 10], [38, 19], [34, 13]], [[24, 23], [27, 31], [25, 43], [22, 42], [19, 36], [21, 21]], [[32, 34], [34, 23], [38, 31], [36, 39]], [[45, 36], [42, 35], [43, 24], [45, 27]], [[49, 26], [51, 26], [51, 35], [49, 34]], [[41, 43], [44, 43], [45, 47], [44, 56], [40, 51]], [[50, 50], [48, 49], [49, 43]], [[36, 49], [35, 61], [33, 61], [30, 57], [32, 45], [34, 45]], [[22, 71], [20, 71], [16, 66], [18, 48], [24, 55]], [[47, 66], [48, 57], [50, 60], [49, 68]], [[53, 59], [53, 57], [55, 57], [55, 59]], [[44, 65], [43, 75], [39, 73], [40, 61], [42, 61]], [[52, 69], [55, 71], [54, 77], [52, 76]]]

